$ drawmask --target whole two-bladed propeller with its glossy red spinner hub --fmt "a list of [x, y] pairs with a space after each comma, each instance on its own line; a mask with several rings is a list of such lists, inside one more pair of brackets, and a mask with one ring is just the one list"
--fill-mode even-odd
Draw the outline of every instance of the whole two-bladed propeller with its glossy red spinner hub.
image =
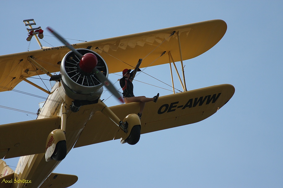
[[85, 55], [81, 55], [72, 45], [70, 45], [65, 39], [63, 39], [58, 33], [56, 33], [53, 29], [50, 27], [47, 27], [47, 29], [55, 36], [57, 37], [63, 44], [65, 44], [70, 50], [72, 50], [79, 58], [79, 67], [82, 71], [86, 73], [93, 72], [98, 80], [106, 86], [106, 88], [122, 103], [124, 103], [123, 98], [120, 96], [118, 91], [115, 89], [113, 84], [108, 81], [108, 79], [96, 68], [97, 65], [97, 57], [96, 55], [92, 53], [87, 53]]

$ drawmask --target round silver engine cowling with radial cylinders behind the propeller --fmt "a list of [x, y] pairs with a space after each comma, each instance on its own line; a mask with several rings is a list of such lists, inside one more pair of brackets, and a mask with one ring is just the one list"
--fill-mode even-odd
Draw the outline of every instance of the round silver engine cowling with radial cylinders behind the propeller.
[[[94, 54], [97, 57], [97, 65], [94, 66], [108, 77], [107, 64], [100, 55], [88, 49], [77, 49], [77, 51], [82, 55]], [[82, 68], [80, 58], [72, 51], [68, 52], [61, 61], [60, 75], [65, 93], [74, 100], [93, 101], [98, 99], [103, 92], [103, 84], [94, 72]]]

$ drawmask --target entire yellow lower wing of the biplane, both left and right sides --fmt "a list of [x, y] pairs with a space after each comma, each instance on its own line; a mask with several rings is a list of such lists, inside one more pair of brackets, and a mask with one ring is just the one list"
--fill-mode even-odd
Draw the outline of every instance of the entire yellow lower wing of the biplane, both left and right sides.
[[[235, 88], [229, 84], [211, 86], [192, 91], [159, 97], [158, 102], [147, 102], [141, 119], [141, 133], [178, 127], [202, 121], [213, 115], [233, 96]], [[110, 107], [120, 118], [139, 111], [139, 103]], [[68, 131], [76, 128], [84, 117], [84, 111], [73, 113], [67, 118]], [[44, 118], [27, 122], [0, 125], [0, 158], [13, 158], [45, 152], [48, 134], [60, 127], [60, 118]], [[119, 139], [122, 130], [108, 117], [98, 111], [86, 122], [75, 148]], [[66, 137], [67, 143], [71, 142]]]

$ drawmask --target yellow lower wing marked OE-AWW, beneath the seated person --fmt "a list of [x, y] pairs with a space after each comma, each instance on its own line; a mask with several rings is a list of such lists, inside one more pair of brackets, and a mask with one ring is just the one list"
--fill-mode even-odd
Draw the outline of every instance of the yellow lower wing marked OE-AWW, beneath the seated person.
[[[142, 113], [141, 133], [202, 121], [224, 106], [234, 92], [234, 86], [223, 84], [159, 97], [157, 103], [147, 102]], [[124, 119], [128, 114], [139, 112], [139, 103], [131, 102], [110, 109]], [[119, 139], [122, 132], [108, 117], [96, 112], [87, 122], [74, 148]]]

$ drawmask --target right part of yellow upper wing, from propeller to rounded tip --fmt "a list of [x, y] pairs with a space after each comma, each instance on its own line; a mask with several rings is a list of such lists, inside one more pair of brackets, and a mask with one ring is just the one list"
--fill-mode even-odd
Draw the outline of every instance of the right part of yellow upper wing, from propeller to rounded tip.
[[143, 59], [140, 68], [169, 63], [167, 54], [160, 57], [165, 51], [170, 51], [175, 62], [180, 61], [178, 33], [183, 60], [197, 57], [217, 44], [226, 30], [227, 25], [223, 20], [210, 20], [80, 43], [77, 46], [91, 46], [106, 61], [109, 72], [114, 73], [124, 70], [125, 66], [136, 67], [140, 58]]

